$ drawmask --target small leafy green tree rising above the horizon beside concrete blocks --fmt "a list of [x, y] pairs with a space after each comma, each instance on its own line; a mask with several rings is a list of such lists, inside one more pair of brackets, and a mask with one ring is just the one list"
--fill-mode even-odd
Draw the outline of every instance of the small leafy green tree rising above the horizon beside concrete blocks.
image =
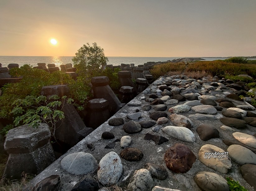
[[99, 69], [102, 66], [105, 66], [108, 58], [105, 57], [104, 49], [97, 46], [97, 43], [92, 43], [90, 46], [82, 46], [77, 50], [76, 56], [72, 58], [74, 67], [77, 68], [78, 75], [86, 74], [86, 72], [91, 72], [91, 70]]

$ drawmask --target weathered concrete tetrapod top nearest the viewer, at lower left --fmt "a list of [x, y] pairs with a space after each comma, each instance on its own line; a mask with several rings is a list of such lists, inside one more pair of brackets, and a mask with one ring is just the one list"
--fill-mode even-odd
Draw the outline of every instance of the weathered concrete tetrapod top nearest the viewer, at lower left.
[[8, 131], [4, 148], [9, 154], [3, 177], [20, 179], [21, 173], [38, 174], [55, 161], [47, 124], [22, 125]]

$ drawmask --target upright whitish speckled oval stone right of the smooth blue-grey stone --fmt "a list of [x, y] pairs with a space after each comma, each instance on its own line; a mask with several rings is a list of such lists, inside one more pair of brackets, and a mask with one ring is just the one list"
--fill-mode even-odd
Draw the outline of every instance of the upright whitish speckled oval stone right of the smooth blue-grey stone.
[[101, 158], [98, 167], [98, 180], [103, 185], [115, 184], [123, 172], [121, 158], [111, 151]]

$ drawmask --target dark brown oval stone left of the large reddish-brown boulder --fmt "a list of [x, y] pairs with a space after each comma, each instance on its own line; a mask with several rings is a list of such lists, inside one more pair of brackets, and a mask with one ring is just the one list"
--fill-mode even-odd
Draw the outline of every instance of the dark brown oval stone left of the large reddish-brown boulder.
[[121, 158], [127, 161], [140, 161], [143, 158], [143, 153], [138, 148], [126, 148], [120, 152]]

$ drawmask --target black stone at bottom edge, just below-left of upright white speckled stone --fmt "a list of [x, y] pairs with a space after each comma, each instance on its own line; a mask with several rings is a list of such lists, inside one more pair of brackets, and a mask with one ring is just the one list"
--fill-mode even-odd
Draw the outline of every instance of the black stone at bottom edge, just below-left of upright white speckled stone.
[[91, 176], [87, 175], [83, 180], [77, 183], [71, 191], [97, 191], [99, 185], [97, 181]]

